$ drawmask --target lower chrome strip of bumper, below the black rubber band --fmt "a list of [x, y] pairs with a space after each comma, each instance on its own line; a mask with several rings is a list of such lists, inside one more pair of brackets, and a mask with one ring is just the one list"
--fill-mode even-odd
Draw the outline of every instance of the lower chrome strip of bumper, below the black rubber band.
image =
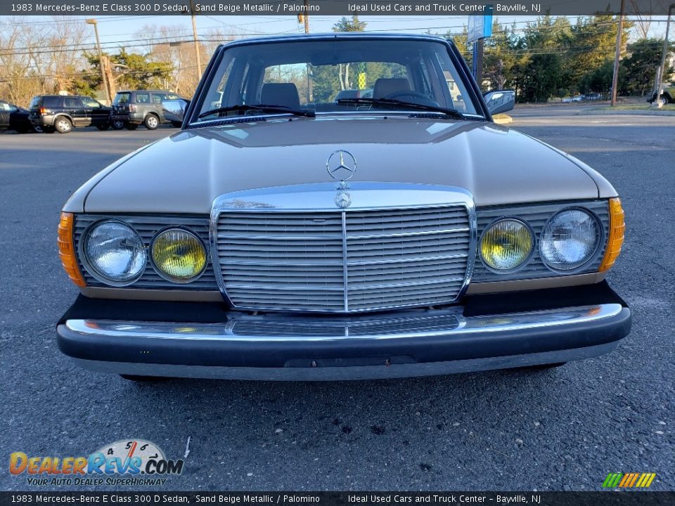
[[213, 378], [221, 380], [257, 381], [347, 381], [347, 380], [392, 380], [406, 377], [449, 375], [462, 372], [477, 372], [495, 369], [521, 368], [529, 365], [564, 363], [593, 358], [616, 349], [618, 341], [546, 353], [527, 353], [468, 360], [392, 364], [355, 365], [328, 368], [247, 368], [213, 367], [205, 365], [166, 365], [130, 362], [88, 361], [73, 358], [79, 367], [96, 372], [137, 376], [168, 376], [186, 378]]

